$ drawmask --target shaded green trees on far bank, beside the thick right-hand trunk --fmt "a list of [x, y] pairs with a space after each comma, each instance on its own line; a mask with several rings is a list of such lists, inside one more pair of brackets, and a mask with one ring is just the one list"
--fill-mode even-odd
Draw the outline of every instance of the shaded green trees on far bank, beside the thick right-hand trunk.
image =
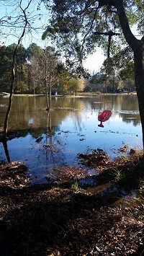
[[96, 79], [96, 82], [107, 80], [109, 88], [134, 90], [135, 71], [132, 58], [133, 53], [130, 47], [119, 50], [113, 57], [107, 58], [104, 61], [99, 79]]

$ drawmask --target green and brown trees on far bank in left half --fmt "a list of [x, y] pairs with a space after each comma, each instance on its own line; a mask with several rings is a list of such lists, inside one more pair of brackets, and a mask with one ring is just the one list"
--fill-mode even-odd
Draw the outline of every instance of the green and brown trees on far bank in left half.
[[[14, 47], [15, 45], [2, 46], [0, 50], [0, 92], [9, 92]], [[45, 72], [47, 82], [51, 84], [50, 88], [55, 87], [59, 92], [63, 92], [64, 86], [68, 89], [71, 74], [66, 66], [58, 61], [58, 54], [53, 47], [44, 50], [32, 43], [25, 49], [20, 45], [15, 58], [14, 92], [45, 93]], [[78, 82], [77, 88], [80, 89]]]

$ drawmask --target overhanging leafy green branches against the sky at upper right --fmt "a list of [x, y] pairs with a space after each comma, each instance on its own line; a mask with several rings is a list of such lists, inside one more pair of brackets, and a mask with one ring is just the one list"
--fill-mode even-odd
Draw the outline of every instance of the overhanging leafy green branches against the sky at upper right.
[[[55, 40], [60, 50], [66, 53], [66, 58], [71, 59], [71, 63], [75, 66], [75, 71], [78, 71], [76, 70], [76, 66], [81, 66], [79, 63], [81, 63], [88, 54], [94, 53], [96, 46], [103, 48], [104, 54], [107, 56], [109, 38], [107, 35], [100, 35], [97, 32], [103, 33], [109, 30], [120, 33], [120, 36], [112, 36], [111, 38], [110, 56], [116, 56], [117, 53], [119, 53], [119, 56], [117, 55], [117, 58], [113, 60], [113, 68], [116, 63], [119, 68], [120, 65], [122, 67], [122, 61], [119, 62], [119, 58], [121, 57], [122, 60], [120, 52], [125, 48], [126, 41], [125, 37], [122, 35], [122, 29], [124, 28], [121, 27], [119, 17], [117, 16], [119, 12], [117, 3], [114, 3], [112, 6], [113, 1], [111, 3], [111, 1], [108, 0], [55, 0], [53, 1], [53, 6], [51, 6], [49, 1], [43, 0], [43, 2], [47, 8], [51, 8], [52, 10], [52, 25], [70, 27], [71, 32], [70, 35], [68, 35], [70, 40], [66, 40], [66, 36], [60, 34]], [[122, 5], [127, 15], [129, 25], [135, 25], [140, 32], [143, 31], [143, 1], [120, 1], [120, 6]], [[127, 51], [127, 56], [129, 56], [129, 54], [131, 55], [130, 48]], [[125, 60], [123, 63], [124, 62]], [[125, 73], [126, 72], [127, 71], [125, 71]], [[128, 73], [130, 74], [129, 69]]]

